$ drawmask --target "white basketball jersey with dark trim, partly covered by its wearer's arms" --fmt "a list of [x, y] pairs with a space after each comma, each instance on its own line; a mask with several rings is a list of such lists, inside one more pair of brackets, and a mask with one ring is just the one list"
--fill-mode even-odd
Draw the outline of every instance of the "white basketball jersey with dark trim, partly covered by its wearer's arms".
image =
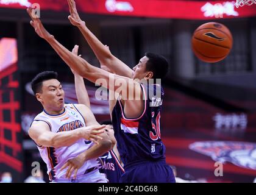
[[[77, 110], [74, 104], [65, 104], [64, 112], [60, 115], [49, 115], [45, 111], [37, 115], [34, 121], [44, 121], [48, 124], [49, 128], [54, 133], [65, 132], [74, 130], [79, 127], [85, 126], [83, 116]], [[33, 121], [33, 122], [34, 122]], [[65, 147], [44, 147], [37, 146], [40, 152], [41, 158], [47, 165], [47, 173], [50, 180], [54, 179], [65, 179], [65, 174], [68, 168], [60, 171], [60, 168], [71, 158], [76, 157], [81, 152], [86, 151], [88, 148], [93, 146], [91, 141], [81, 138], [71, 146]], [[77, 176], [82, 176], [87, 169], [99, 166], [99, 161], [94, 158], [85, 161], [84, 165], [78, 169]], [[73, 172], [74, 173], [74, 172]], [[73, 178], [73, 175], [71, 176]]]

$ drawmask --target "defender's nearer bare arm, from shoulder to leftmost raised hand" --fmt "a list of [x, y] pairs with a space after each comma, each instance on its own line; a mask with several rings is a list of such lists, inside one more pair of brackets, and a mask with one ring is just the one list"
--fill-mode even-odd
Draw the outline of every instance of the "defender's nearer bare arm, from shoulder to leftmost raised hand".
[[[35, 32], [44, 38], [64, 60], [64, 62], [76, 71], [82, 77], [87, 78], [93, 83], [98, 83], [111, 91], [115, 91], [122, 95], [125, 101], [124, 112], [128, 118], [137, 118], [143, 110], [143, 93], [140, 83], [135, 82], [128, 77], [119, 76], [108, 73], [101, 68], [90, 65], [86, 60], [78, 57], [72, 52], [68, 51], [62, 44], [55, 40], [54, 36], [50, 35], [40, 19], [32, 17], [32, 9], [27, 9], [32, 21], [30, 24], [34, 27]], [[126, 106], [127, 105], [127, 106]]]

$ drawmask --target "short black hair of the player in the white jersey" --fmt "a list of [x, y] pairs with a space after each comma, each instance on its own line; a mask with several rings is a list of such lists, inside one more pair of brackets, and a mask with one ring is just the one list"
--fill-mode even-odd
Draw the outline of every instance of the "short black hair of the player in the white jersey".
[[58, 73], [54, 71], [44, 71], [37, 74], [37, 76], [35, 76], [31, 82], [31, 88], [34, 94], [41, 92], [42, 83], [44, 80], [57, 79], [57, 78], [58, 78]]

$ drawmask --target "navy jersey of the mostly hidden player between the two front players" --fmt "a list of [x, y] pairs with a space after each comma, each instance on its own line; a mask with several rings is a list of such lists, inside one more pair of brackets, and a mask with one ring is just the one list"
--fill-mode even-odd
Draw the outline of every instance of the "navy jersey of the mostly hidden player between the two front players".
[[99, 172], [106, 175], [109, 183], [118, 183], [124, 173], [124, 168], [116, 157], [115, 152], [111, 150], [99, 158], [102, 164]]

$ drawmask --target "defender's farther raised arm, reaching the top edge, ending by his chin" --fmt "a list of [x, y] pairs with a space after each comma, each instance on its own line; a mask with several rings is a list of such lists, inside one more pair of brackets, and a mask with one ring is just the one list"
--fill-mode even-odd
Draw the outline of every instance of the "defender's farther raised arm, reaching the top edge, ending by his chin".
[[77, 26], [80, 32], [82, 32], [85, 40], [87, 40], [87, 43], [90, 45], [99, 62], [120, 76], [132, 78], [132, 69], [112, 55], [104, 44], [102, 44], [101, 41], [99, 41], [98, 38], [87, 28], [85, 22], [80, 19], [74, 0], [68, 0], [68, 5], [70, 12], [70, 15], [68, 16], [69, 21], [74, 26]]

